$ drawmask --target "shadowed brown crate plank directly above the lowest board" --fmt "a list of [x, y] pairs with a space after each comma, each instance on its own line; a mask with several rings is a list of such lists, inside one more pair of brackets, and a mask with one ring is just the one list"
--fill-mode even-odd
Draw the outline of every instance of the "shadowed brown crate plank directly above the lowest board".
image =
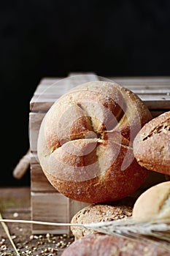
[[57, 192], [50, 184], [39, 164], [31, 165], [31, 191], [32, 192]]

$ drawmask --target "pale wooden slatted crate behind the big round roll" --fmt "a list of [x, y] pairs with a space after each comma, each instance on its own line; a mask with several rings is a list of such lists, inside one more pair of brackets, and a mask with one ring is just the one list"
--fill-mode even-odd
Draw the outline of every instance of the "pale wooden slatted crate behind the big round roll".
[[[70, 222], [87, 203], [61, 195], [47, 181], [37, 159], [36, 143], [42, 118], [61, 95], [91, 80], [112, 80], [125, 86], [146, 103], [152, 116], [170, 110], [170, 77], [101, 78], [93, 73], [70, 74], [69, 78], [43, 78], [30, 102], [29, 139], [31, 149], [31, 218], [48, 222]], [[33, 225], [32, 233], [70, 233], [69, 227]]]

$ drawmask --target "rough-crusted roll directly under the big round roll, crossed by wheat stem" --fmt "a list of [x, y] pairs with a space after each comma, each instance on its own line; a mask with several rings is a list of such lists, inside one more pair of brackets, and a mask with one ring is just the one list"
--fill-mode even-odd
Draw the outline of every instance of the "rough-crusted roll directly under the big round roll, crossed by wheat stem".
[[[115, 219], [130, 217], [132, 206], [110, 206], [107, 204], [91, 204], [85, 206], [82, 210], [72, 217], [72, 224], [89, 224], [92, 222], [109, 222]], [[81, 226], [71, 226], [72, 234], [75, 239], [87, 236], [90, 233], [96, 233], [96, 230], [88, 229]]]

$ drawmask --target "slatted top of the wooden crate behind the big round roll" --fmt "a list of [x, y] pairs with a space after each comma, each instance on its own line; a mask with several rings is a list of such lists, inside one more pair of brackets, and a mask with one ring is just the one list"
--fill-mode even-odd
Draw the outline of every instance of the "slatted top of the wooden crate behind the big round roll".
[[[96, 78], [96, 80], [100, 80], [100, 77], [96, 77], [95, 75], [94, 78]], [[103, 79], [107, 80], [107, 78]], [[42, 80], [39, 86], [37, 86], [34, 97], [31, 99], [31, 110], [47, 112], [55, 100], [61, 97], [61, 95], [65, 94], [69, 89], [72, 89], [72, 87], [89, 80], [91, 80], [91, 75], [75, 75], [63, 80], [54, 78], [50, 80], [48, 85], [47, 79]], [[135, 94], [138, 94], [138, 96], [146, 103], [148, 108], [170, 108], [170, 77], [112, 78], [112, 80], [120, 83], [128, 89], [131, 89]]]

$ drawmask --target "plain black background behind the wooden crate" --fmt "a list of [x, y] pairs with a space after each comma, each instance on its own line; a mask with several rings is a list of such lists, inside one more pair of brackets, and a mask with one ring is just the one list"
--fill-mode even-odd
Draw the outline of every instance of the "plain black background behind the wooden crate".
[[0, 186], [29, 148], [29, 102], [43, 77], [170, 75], [170, 1], [4, 1], [0, 9]]

